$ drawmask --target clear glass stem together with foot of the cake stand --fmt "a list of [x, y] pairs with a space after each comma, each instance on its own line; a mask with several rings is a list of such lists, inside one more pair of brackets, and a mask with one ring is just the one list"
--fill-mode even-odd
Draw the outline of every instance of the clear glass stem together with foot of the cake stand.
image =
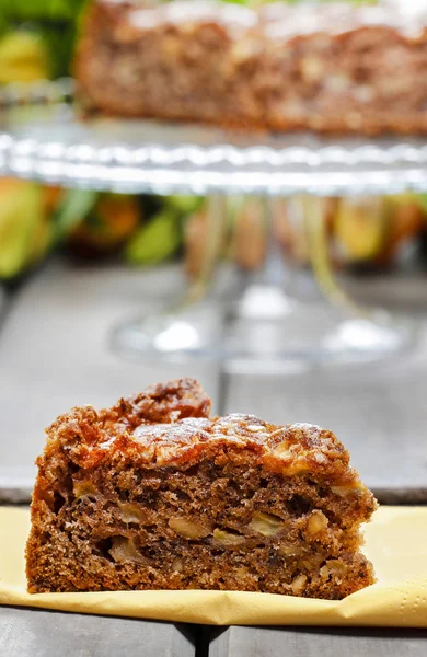
[[[223, 371], [282, 373], [313, 365], [372, 362], [412, 347], [416, 342], [412, 322], [381, 310], [366, 311], [341, 289], [330, 261], [326, 203], [326, 198], [302, 199], [305, 205], [299, 222], [323, 299], [318, 292], [309, 300], [313, 277], [307, 286], [308, 272], [293, 268], [291, 260], [288, 265], [284, 257], [269, 198], [263, 200], [261, 218], [264, 266], [245, 274], [243, 293], [233, 302], [210, 295], [229, 227], [226, 196], [212, 195], [207, 200], [206, 239], [200, 245], [203, 264], [184, 298], [173, 308], [118, 326], [113, 348], [126, 357], [161, 356], [174, 362], [212, 358]], [[259, 231], [245, 237], [258, 238]]]

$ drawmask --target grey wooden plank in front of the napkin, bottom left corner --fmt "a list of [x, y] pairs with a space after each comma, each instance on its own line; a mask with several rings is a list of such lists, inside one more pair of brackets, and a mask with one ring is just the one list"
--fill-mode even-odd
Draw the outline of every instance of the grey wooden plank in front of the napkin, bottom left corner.
[[0, 607], [4, 657], [194, 657], [187, 626]]

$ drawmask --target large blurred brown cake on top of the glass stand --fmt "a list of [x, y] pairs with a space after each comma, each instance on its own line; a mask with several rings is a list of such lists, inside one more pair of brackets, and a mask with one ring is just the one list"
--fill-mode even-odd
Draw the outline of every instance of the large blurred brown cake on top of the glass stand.
[[427, 8], [411, 8], [95, 0], [74, 74], [115, 116], [426, 134]]

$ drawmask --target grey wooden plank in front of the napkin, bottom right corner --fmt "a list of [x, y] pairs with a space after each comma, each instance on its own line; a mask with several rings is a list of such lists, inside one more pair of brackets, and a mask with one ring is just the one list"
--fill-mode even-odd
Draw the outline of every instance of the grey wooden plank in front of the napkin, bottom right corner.
[[230, 627], [215, 633], [209, 657], [424, 657], [427, 631]]

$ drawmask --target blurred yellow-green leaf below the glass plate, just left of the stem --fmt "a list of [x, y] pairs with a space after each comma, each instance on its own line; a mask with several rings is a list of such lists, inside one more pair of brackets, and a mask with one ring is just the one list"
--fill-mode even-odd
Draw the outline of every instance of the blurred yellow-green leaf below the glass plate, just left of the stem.
[[180, 245], [180, 220], [176, 212], [164, 208], [135, 233], [125, 258], [130, 265], [155, 265], [174, 255]]

